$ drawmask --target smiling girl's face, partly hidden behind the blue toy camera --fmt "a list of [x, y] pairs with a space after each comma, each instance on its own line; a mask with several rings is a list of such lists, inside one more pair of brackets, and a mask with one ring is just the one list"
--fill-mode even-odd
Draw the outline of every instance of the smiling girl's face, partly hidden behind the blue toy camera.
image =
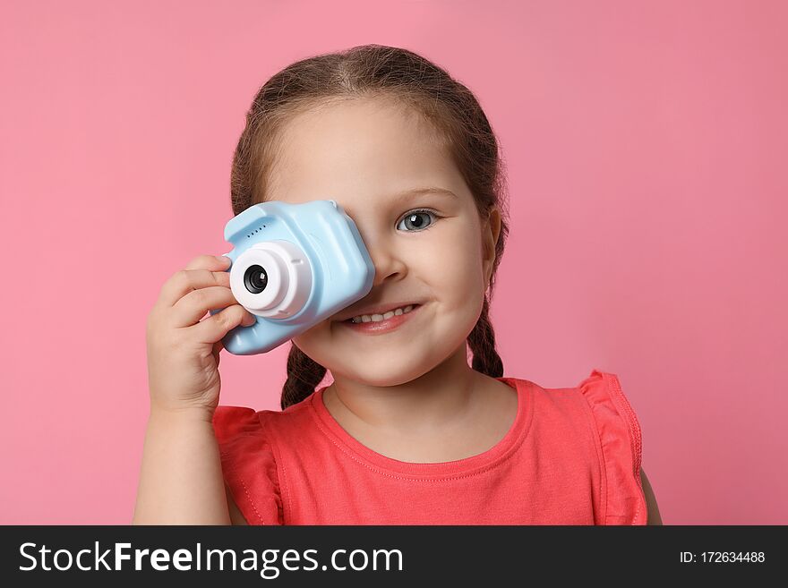
[[[293, 337], [295, 345], [334, 379], [381, 387], [416, 379], [457, 353], [482, 311], [500, 226], [482, 225], [431, 127], [401, 107], [364, 99], [298, 115], [282, 134], [267, 200], [337, 201], [375, 266], [369, 294]], [[453, 195], [400, 195], [427, 187]], [[491, 218], [499, 218], [497, 210]], [[422, 307], [386, 333], [366, 335], [337, 320], [399, 301]]]

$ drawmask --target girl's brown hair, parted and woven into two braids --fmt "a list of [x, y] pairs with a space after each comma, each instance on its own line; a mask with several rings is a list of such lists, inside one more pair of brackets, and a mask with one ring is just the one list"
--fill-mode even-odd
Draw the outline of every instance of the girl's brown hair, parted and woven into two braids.
[[[501, 212], [495, 260], [479, 320], [467, 337], [472, 368], [492, 378], [503, 375], [488, 317], [495, 272], [509, 233], [504, 201], [506, 175], [498, 141], [473, 93], [441, 67], [398, 47], [365, 45], [317, 55], [273, 75], [254, 97], [238, 140], [231, 175], [233, 213], [265, 201], [269, 173], [276, 162], [278, 138], [293, 115], [333, 101], [393, 98], [433, 124], [475, 199], [484, 220], [493, 206]], [[310, 396], [326, 368], [291, 342], [282, 410]]]

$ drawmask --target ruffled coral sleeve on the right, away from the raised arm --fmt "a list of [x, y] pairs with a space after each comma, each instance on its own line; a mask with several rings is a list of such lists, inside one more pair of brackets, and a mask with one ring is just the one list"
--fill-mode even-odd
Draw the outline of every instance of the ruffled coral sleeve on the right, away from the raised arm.
[[646, 524], [638, 417], [615, 374], [591, 371], [579, 388], [591, 407], [602, 447], [604, 524]]

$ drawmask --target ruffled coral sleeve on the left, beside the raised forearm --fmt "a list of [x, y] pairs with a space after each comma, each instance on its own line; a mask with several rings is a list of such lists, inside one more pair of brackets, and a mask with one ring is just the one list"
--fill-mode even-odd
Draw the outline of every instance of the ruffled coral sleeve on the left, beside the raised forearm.
[[261, 413], [218, 406], [213, 416], [222, 473], [249, 524], [283, 524], [277, 464]]

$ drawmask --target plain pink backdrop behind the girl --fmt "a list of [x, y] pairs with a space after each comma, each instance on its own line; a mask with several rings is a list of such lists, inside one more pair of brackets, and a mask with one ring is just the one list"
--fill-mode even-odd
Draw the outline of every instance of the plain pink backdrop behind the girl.
[[[4, 2], [0, 523], [127, 524], [160, 285], [229, 251], [274, 72], [366, 43], [479, 98], [509, 163], [508, 376], [619, 375], [665, 524], [788, 524], [784, 2]], [[226, 352], [278, 409], [287, 347]], [[783, 383], [781, 383], [783, 382]]]

